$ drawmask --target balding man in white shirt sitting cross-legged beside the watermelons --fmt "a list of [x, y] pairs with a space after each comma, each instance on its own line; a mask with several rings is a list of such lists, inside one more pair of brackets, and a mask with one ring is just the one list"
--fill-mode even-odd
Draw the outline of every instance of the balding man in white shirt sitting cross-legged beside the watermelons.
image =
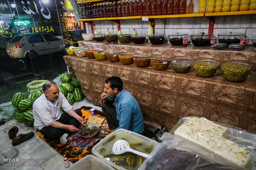
[[66, 144], [68, 135], [80, 131], [77, 129], [79, 122], [86, 120], [81, 117], [80, 110], [73, 110], [54, 82], [45, 83], [43, 92], [33, 103], [34, 126], [48, 138], [59, 138], [62, 144]]

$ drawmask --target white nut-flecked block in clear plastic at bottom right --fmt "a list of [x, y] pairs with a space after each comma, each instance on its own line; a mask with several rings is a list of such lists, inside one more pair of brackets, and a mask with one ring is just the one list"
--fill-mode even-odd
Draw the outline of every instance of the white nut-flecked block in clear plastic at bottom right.
[[175, 136], [180, 136], [228, 159], [232, 163], [245, 167], [252, 154], [239, 147], [235, 142], [225, 139], [227, 128], [219, 124], [193, 117], [179, 126]]

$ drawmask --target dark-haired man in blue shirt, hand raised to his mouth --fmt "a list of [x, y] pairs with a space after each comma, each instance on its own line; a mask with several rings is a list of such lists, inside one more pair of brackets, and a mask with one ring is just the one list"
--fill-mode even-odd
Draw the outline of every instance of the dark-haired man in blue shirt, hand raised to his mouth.
[[143, 133], [144, 124], [139, 103], [126, 90], [123, 90], [121, 78], [112, 76], [105, 81], [101, 94], [102, 111], [109, 129], [127, 129]]

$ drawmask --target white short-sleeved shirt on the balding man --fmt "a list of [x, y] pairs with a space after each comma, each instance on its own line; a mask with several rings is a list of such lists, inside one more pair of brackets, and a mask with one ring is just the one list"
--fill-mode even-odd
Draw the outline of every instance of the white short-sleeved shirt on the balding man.
[[59, 98], [55, 102], [47, 99], [45, 94], [38, 97], [33, 103], [34, 126], [36, 129], [41, 130], [44, 126], [49, 126], [55, 120], [59, 120], [63, 113], [61, 108], [66, 113], [73, 109], [61, 92], [59, 92]]

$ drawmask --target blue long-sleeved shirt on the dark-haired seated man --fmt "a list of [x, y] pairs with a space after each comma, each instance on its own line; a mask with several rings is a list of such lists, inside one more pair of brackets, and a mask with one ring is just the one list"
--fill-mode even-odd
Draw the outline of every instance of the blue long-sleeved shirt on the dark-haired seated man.
[[135, 133], [143, 133], [144, 124], [140, 105], [129, 92], [122, 90], [116, 99], [114, 97], [108, 97], [108, 99], [108, 103], [115, 102], [116, 116], [119, 120], [119, 127], [116, 129], [122, 128]]

